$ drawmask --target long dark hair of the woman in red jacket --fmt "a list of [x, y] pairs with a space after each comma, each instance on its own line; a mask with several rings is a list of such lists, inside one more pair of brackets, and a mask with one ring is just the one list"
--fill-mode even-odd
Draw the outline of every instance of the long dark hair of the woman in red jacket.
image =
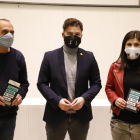
[[[137, 38], [140, 41], [140, 31], [138, 31], [138, 30], [130, 31], [125, 35], [125, 37], [123, 39], [121, 53], [118, 58], [118, 60], [121, 60], [121, 65], [120, 65], [119, 70], [125, 70], [125, 68], [128, 66], [127, 65], [127, 54], [125, 53], [124, 49], [125, 49], [126, 42], [129, 39], [134, 39], [134, 38]], [[139, 67], [138, 71], [140, 72], [140, 67]]]

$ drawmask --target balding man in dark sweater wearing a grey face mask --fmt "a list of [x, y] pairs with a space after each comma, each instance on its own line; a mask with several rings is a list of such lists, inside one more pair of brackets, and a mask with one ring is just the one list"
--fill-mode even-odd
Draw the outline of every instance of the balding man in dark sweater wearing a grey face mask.
[[[9, 20], [0, 19], [0, 140], [13, 140], [18, 105], [26, 96], [29, 83], [22, 53], [11, 47], [14, 28]], [[20, 90], [11, 107], [5, 105], [4, 90], [9, 82], [20, 83]]]

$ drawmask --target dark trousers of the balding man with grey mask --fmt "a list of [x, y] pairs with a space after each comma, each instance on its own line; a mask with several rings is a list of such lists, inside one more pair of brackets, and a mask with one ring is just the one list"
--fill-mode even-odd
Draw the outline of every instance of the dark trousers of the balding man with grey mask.
[[0, 140], [13, 140], [16, 117], [10, 120], [0, 120]]

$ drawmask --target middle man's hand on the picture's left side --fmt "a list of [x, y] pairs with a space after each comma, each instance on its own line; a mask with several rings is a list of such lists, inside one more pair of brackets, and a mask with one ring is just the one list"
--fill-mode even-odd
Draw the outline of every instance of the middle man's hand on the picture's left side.
[[68, 111], [71, 108], [71, 103], [67, 99], [61, 99], [58, 106], [64, 110]]

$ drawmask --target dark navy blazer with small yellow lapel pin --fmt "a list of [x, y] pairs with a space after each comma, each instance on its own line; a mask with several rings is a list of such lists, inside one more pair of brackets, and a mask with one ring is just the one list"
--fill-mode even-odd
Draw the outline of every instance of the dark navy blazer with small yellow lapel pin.
[[[88, 81], [90, 88], [88, 88]], [[62, 98], [68, 98], [63, 47], [46, 52], [37, 87], [47, 100], [44, 118], [47, 123], [59, 123], [66, 117], [66, 112], [58, 106]], [[91, 101], [101, 89], [100, 73], [92, 52], [81, 48], [77, 52], [77, 73], [75, 83], [75, 98], [83, 97], [84, 106], [76, 111], [76, 119], [88, 122], [92, 119]]]

